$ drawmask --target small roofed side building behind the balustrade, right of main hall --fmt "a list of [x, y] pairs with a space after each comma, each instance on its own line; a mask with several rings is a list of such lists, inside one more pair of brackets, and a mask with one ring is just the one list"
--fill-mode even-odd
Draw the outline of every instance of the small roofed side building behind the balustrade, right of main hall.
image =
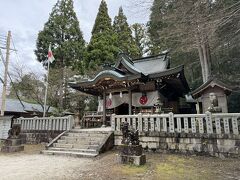
[[229, 96], [231, 92], [232, 88], [212, 77], [191, 94], [193, 98], [196, 99], [196, 110], [198, 114], [209, 111], [213, 103], [218, 106], [222, 113], [227, 113], [227, 96]]

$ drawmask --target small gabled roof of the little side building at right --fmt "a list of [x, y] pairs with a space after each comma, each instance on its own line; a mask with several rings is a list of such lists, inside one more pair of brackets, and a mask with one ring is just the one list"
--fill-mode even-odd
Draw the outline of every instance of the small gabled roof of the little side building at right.
[[222, 81], [211, 77], [207, 82], [203, 83], [201, 86], [199, 86], [197, 89], [191, 92], [193, 97], [200, 97], [202, 93], [209, 87], [219, 87], [225, 91], [226, 94], [230, 94], [232, 92], [232, 88], [223, 83]]

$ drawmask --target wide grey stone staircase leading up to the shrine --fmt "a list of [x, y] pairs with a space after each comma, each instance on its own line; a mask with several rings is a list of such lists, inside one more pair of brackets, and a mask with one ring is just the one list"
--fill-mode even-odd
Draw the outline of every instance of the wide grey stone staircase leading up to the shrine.
[[113, 132], [110, 128], [72, 129], [53, 140], [41, 153], [96, 157], [99, 153], [112, 148], [113, 141]]

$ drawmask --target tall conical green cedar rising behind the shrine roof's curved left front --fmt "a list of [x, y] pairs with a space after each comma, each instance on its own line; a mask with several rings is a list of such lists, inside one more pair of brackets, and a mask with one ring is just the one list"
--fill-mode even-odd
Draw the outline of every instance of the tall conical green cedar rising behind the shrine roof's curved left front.
[[87, 47], [86, 66], [89, 70], [95, 70], [105, 63], [114, 63], [116, 55], [116, 37], [108, 15], [107, 3], [102, 0]]

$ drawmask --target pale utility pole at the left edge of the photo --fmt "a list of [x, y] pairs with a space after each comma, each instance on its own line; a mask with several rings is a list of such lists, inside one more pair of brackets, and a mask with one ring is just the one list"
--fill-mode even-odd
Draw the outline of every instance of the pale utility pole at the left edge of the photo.
[[4, 116], [4, 112], [6, 109], [6, 91], [7, 91], [8, 64], [9, 64], [9, 56], [10, 56], [10, 39], [11, 39], [11, 31], [8, 31], [7, 44], [6, 44], [6, 62], [5, 62], [5, 71], [4, 71], [4, 80], [3, 80], [4, 83], [3, 83], [3, 91], [2, 91], [1, 116]]

